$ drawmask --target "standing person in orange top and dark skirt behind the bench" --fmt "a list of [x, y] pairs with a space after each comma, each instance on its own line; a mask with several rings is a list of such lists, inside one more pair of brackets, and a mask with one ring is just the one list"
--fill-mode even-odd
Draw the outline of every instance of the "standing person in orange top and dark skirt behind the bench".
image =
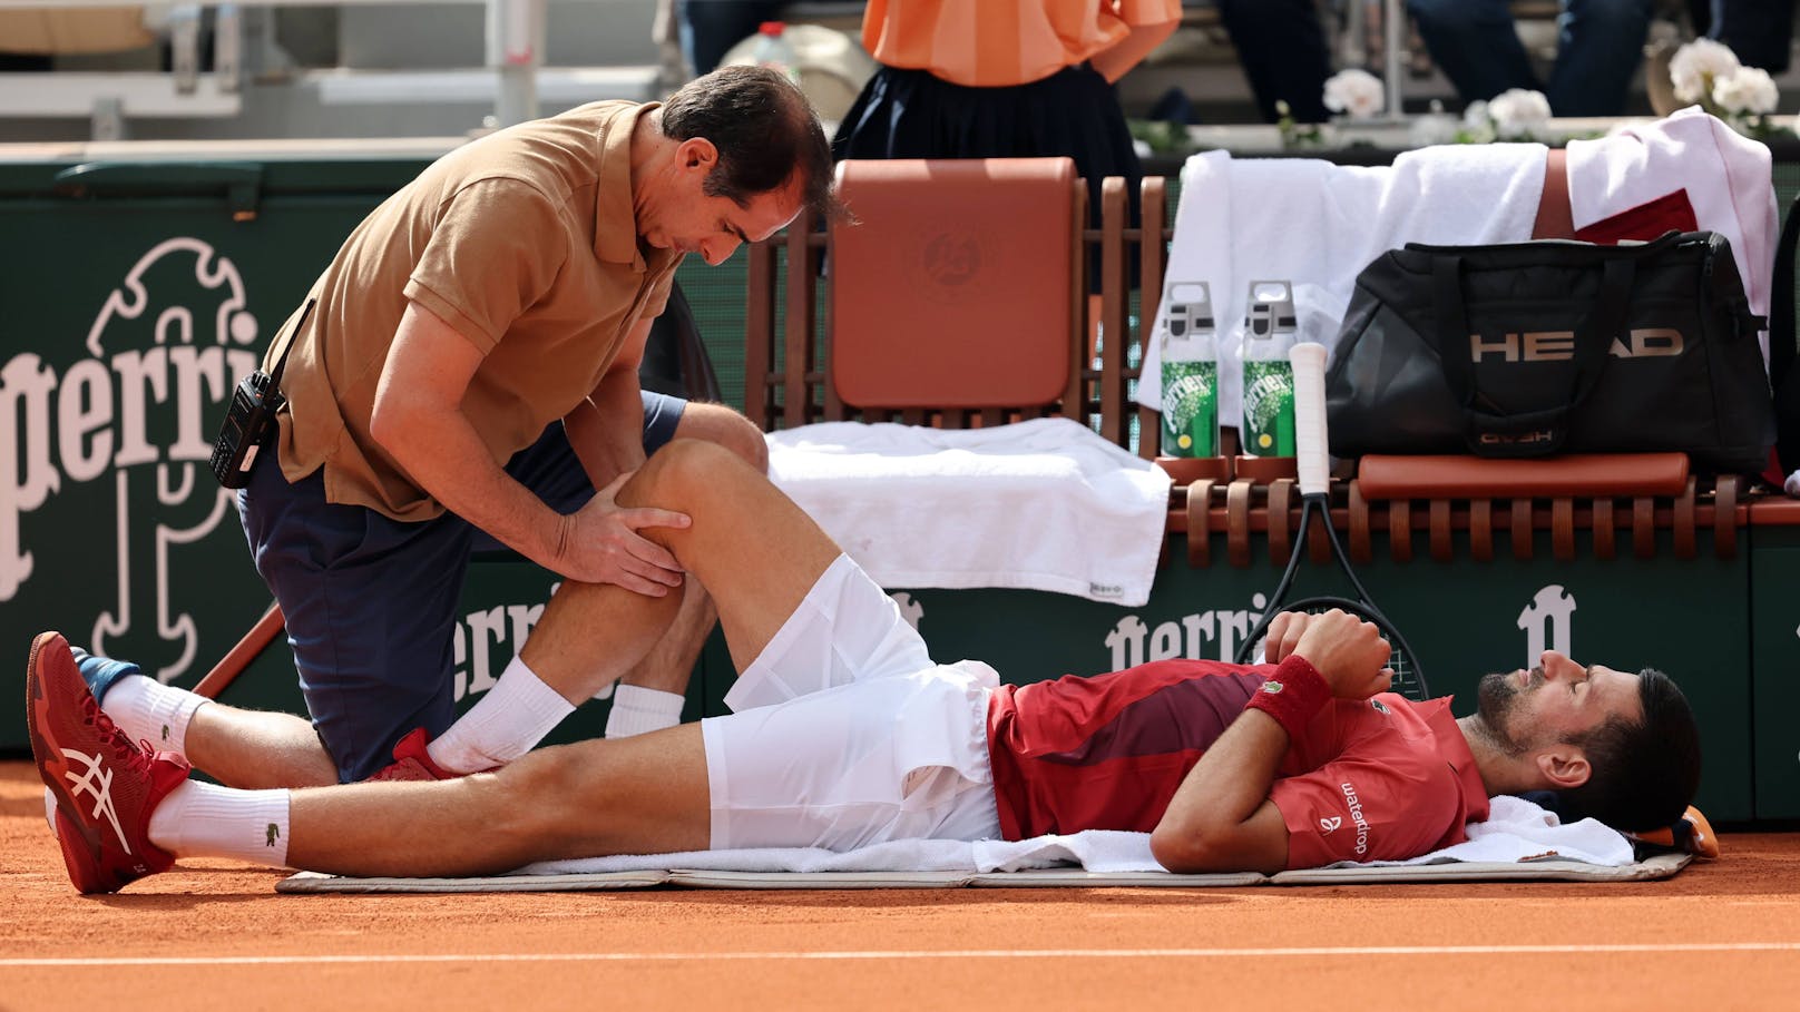
[[1100, 185], [1143, 169], [1112, 85], [1181, 23], [1181, 0], [869, 0], [880, 65], [837, 128], [839, 158], [1067, 155]]

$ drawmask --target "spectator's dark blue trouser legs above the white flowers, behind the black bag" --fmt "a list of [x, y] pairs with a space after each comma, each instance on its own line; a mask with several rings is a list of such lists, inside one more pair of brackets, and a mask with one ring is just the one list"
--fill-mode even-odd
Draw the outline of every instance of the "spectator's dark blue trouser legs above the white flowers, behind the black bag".
[[1555, 115], [1622, 115], [1643, 61], [1652, 0], [1562, 0], [1557, 59], [1539, 83], [1508, 0], [1406, 0], [1418, 34], [1465, 103], [1543, 92]]

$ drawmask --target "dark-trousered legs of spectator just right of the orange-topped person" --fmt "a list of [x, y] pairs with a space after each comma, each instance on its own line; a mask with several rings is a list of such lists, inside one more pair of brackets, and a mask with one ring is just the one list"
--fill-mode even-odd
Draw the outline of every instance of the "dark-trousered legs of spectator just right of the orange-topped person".
[[1231, 34], [1256, 108], [1269, 122], [1287, 103], [1296, 122], [1325, 122], [1325, 79], [1332, 54], [1314, 0], [1219, 0], [1219, 20]]

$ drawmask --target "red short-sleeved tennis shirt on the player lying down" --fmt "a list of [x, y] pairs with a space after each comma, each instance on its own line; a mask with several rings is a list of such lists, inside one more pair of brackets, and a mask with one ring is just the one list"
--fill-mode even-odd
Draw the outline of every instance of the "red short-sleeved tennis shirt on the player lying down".
[[[1274, 664], [1154, 661], [1109, 675], [1001, 686], [988, 758], [1006, 839], [1148, 832], [1181, 780]], [[1269, 798], [1287, 866], [1402, 861], [1467, 839], [1487, 789], [1449, 699], [1337, 699], [1292, 742]]]

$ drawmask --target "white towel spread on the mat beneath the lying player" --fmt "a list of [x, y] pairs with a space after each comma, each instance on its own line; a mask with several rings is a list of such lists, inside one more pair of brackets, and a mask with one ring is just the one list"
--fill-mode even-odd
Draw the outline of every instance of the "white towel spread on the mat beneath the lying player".
[[[1620, 868], [1633, 863], [1631, 841], [1593, 821], [1562, 825], [1544, 809], [1499, 796], [1485, 823], [1469, 823], [1469, 839], [1411, 861], [1368, 864], [1438, 864], [1445, 861], [1530, 861], [1561, 857]], [[1022, 872], [1026, 868], [1080, 866], [1087, 872], [1161, 872], [1150, 855], [1150, 834], [1084, 830], [1031, 839], [896, 839], [848, 852], [796, 848], [697, 850], [686, 854], [634, 854], [544, 861], [517, 875], [585, 875], [599, 872]], [[1354, 868], [1339, 863], [1334, 868]]]

